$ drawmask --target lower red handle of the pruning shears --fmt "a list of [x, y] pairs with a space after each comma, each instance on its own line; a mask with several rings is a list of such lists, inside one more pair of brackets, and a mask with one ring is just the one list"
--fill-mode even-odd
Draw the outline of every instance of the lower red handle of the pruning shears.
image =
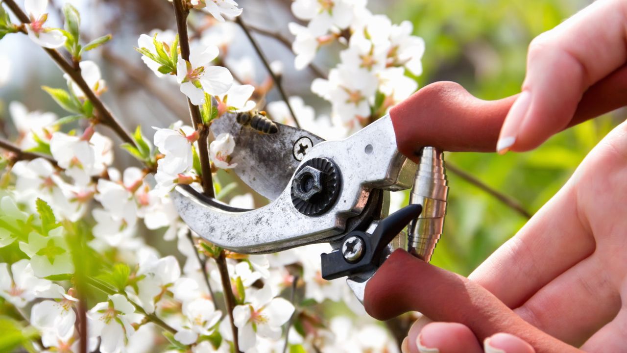
[[418, 311], [435, 321], [463, 323], [480, 340], [505, 332], [529, 342], [537, 352], [579, 352], [522, 320], [482, 286], [401, 249], [366, 285], [364, 307], [379, 320]]

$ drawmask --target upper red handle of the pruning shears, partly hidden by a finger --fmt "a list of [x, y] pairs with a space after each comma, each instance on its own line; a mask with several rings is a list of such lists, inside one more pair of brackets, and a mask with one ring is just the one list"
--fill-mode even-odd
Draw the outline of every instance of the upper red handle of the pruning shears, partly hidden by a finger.
[[[403, 155], [434, 146], [445, 151], [493, 152], [500, 129], [517, 95], [482, 100], [455, 82], [435, 82], [390, 111], [396, 143]], [[627, 66], [587, 89], [567, 126], [627, 104]]]

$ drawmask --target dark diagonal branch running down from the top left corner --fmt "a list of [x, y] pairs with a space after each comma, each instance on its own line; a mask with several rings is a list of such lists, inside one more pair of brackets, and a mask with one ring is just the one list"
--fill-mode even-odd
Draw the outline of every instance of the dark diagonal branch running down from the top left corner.
[[[14, 0], [4, 0], [4, 3], [7, 4], [9, 9], [11, 9], [13, 14], [15, 14], [19, 21], [24, 24], [31, 23], [31, 20], [28, 18], [26, 13], [24, 13], [24, 11], [19, 8], [18, 4], [16, 4]], [[100, 118], [100, 121], [103, 124], [107, 125], [109, 128], [113, 129], [113, 131], [115, 131], [115, 133], [120, 136], [120, 138], [124, 140], [124, 142], [134, 145], [135, 141], [130, 136], [130, 133], [122, 127], [120, 122], [117, 121], [115, 117], [113, 117], [113, 115], [107, 109], [102, 100], [100, 100], [100, 98], [98, 98], [97, 95], [93, 92], [92, 87], [89, 87], [87, 82], [85, 82], [85, 79], [83, 79], [83, 76], [80, 73], [80, 68], [73, 67], [55, 49], [43, 48], [43, 50], [45, 50], [46, 53], [50, 55], [56, 65], [58, 65], [58, 67], [60, 67], [63, 72], [67, 73], [70, 78], [75, 82], [75, 84], [78, 85], [78, 87], [80, 87], [80, 89], [85, 93], [87, 99], [92, 102], [94, 109], [98, 112], [98, 117]]]

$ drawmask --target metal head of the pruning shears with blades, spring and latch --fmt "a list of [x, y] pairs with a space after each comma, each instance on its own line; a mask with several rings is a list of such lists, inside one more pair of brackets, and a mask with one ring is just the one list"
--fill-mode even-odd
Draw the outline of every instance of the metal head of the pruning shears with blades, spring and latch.
[[[211, 131], [233, 136], [234, 173], [270, 204], [237, 209], [178, 185], [174, 205], [192, 231], [236, 253], [329, 242], [333, 251], [320, 256], [322, 277], [347, 276], [362, 301], [389, 254], [402, 248], [429, 261], [442, 232], [443, 153], [428, 146], [399, 152], [406, 114], [392, 112], [339, 141], [278, 123], [273, 133], [260, 133], [240, 124], [238, 114], [224, 114]], [[409, 205], [389, 215], [389, 192], [409, 188]]]

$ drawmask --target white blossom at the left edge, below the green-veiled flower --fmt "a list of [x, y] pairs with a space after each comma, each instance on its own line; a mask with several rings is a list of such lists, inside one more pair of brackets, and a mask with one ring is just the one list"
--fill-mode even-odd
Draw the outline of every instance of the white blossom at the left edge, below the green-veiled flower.
[[[13, 275], [13, 276], [11, 276]], [[37, 291], [50, 285], [50, 281], [37, 278], [27, 259], [11, 264], [0, 263], [0, 296], [18, 308], [23, 308], [36, 298]]]

